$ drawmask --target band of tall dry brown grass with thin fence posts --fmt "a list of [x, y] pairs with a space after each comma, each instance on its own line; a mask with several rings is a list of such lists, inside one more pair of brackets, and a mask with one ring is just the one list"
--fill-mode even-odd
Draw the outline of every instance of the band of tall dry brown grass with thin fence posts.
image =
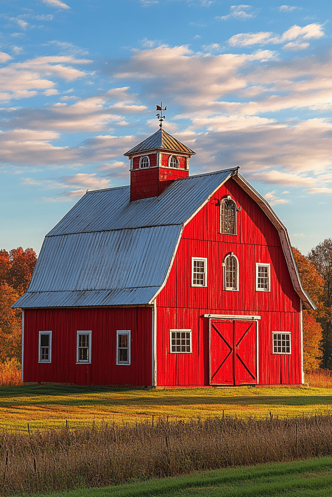
[[167, 418], [0, 432], [0, 495], [104, 487], [332, 454], [332, 416]]

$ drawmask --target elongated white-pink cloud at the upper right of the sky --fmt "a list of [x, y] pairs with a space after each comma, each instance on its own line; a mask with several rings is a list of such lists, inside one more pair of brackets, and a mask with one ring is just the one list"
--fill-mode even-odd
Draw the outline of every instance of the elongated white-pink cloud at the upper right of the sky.
[[324, 36], [323, 24], [315, 22], [304, 27], [300, 27], [295, 24], [294, 26], [287, 29], [287, 31], [284, 31], [281, 36], [272, 35], [273, 33], [270, 31], [260, 31], [257, 33], [238, 33], [229, 38], [228, 44], [231, 47], [246, 47], [255, 44], [281, 44], [287, 41], [296, 40], [297, 38], [300, 41], [308, 39], [319, 39]]

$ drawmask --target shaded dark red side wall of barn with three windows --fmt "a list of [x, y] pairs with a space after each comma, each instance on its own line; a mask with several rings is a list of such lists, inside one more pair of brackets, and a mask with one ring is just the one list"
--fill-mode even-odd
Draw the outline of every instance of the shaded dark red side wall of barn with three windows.
[[[26, 309], [23, 379], [77, 385], [150, 385], [152, 309]], [[91, 364], [76, 364], [77, 331], [91, 330]], [[116, 330], [131, 330], [131, 364], [116, 365]], [[52, 362], [38, 363], [38, 332], [52, 331]]]

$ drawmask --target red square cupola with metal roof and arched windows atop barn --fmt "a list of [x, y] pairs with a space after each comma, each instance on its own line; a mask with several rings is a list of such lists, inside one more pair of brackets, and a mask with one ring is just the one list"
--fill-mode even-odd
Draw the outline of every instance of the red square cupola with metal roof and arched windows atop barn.
[[123, 154], [130, 159], [130, 200], [156, 197], [175, 179], [189, 176], [193, 154], [162, 127]]

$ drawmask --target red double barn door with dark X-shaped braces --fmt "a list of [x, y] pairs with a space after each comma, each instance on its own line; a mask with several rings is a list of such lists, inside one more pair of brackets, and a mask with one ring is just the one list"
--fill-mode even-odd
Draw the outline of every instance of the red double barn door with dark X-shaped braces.
[[257, 383], [257, 335], [255, 321], [210, 323], [210, 384]]

